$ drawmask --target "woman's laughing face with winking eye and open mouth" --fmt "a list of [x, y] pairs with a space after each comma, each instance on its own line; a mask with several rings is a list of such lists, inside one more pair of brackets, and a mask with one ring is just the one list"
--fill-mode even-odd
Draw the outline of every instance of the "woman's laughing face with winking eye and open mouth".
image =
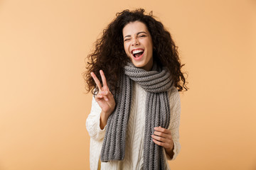
[[124, 50], [135, 67], [150, 71], [153, 66], [153, 42], [146, 25], [134, 21], [124, 26]]

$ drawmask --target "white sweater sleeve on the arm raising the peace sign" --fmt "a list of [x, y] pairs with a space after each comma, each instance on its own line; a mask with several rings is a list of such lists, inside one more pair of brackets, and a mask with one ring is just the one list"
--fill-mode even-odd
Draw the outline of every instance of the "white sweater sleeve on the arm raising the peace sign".
[[93, 140], [97, 140], [97, 141], [103, 139], [103, 137], [105, 136], [105, 130], [107, 127], [106, 125], [103, 130], [100, 129], [101, 111], [102, 110], [100, 106], [98, 105], [97, 101], [95, 101], [95, 97], [92, 96], [92, 108], [91, 108], [90, 114], [86, 119], [86, 128], [90, 137], [92, 137]]

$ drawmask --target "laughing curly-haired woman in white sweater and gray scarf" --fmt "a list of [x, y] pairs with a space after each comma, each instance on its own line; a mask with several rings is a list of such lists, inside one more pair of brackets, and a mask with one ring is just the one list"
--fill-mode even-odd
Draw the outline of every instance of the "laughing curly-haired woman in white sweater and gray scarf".
[[88, 60], [90, 169], [169, 169], [181, 148], [178, 91], [187, 90], [170, 33], [152, 13], [125, 10]]

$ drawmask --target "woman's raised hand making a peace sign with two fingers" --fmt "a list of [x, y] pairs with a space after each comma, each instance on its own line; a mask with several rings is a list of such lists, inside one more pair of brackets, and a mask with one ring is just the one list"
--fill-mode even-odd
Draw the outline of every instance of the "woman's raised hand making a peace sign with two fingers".
[[111, 113], [114, 111], [115, 101], [114, 96], [111, 94], [110, 89], [107, 86], [107, 79], [102, 70], [100, 70], [100, 77], [102, 78], [103, 86], [100, 84], [100, 80], [97, 79], [96, 75], [91, 72], [92, 79], [94, 79], [95, 84], [97, 85], [99, 92], [95, 96], [95, 101], [102, 108], [102, 114], [105, 118], [108, 118]]

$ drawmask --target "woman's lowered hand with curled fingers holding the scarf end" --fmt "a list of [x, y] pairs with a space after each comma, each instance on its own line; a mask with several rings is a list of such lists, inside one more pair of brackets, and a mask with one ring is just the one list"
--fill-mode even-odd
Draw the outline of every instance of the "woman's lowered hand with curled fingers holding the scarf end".
[[156, 145], [164, 147], [169, 157], [174, 157], [174, 141], [171, 137], [171, 130], [155, 127], [154, 135], [151, 135]]

